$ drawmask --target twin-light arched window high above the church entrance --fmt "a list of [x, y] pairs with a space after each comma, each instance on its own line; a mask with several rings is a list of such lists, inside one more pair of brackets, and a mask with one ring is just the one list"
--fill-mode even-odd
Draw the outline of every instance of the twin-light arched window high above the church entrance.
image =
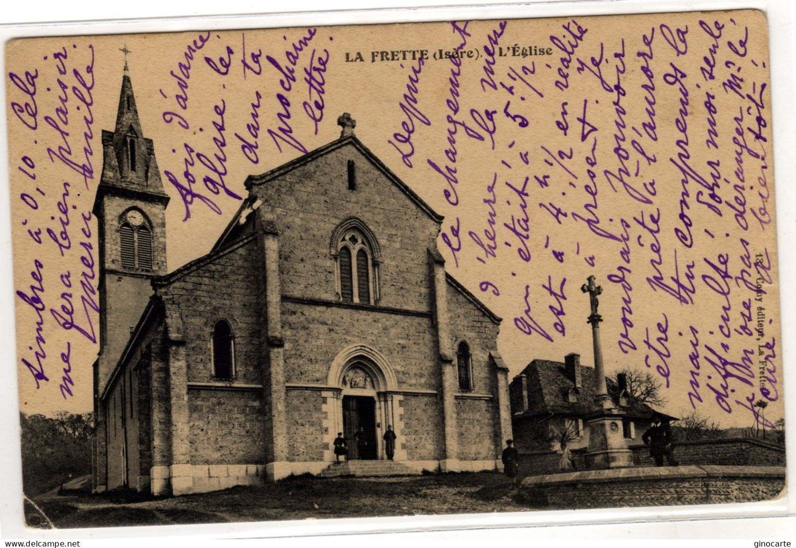
[[338, 243], [341, 301], [373, 305], [373, 254], [361, 231], [345, 231]]

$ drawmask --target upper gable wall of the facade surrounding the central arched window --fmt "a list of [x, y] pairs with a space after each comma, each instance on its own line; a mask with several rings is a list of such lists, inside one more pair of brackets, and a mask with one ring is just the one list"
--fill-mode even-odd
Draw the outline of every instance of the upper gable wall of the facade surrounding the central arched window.
[[[348, 188], [349, 160], [357, 173], [355, 190]], [[342, 220], [357, 217], [373, 231], [382, 250], [379, 304], [429, 309], [427, 248], [435, 245], [439, 224], [353, 145], [318, 157], [252, 192], [279, 227], [283, 294], [337, 300], [332, 232]]]

